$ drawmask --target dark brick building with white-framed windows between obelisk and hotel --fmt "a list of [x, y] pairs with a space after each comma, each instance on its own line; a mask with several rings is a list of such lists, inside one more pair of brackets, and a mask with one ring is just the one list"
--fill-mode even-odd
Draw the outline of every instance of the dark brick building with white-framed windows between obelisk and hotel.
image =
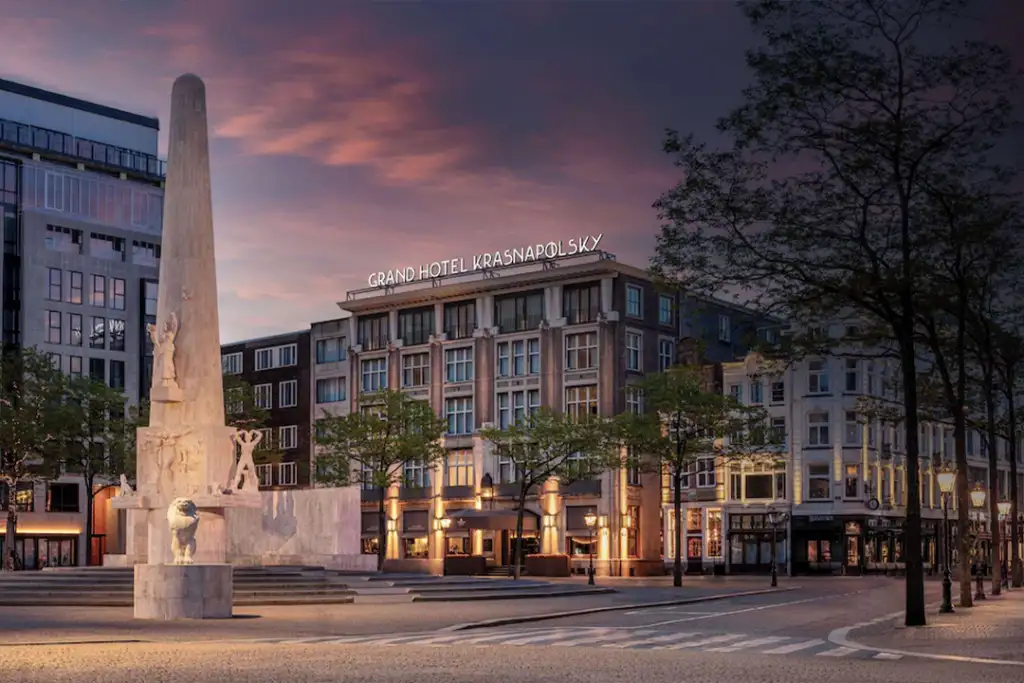
[[267, 413], [253, 454], [260, 488], [308, 486], [309, 331], [224, 344], [220, 353], [225, 381], [237, 377], [248, 384], [255, 405]]

